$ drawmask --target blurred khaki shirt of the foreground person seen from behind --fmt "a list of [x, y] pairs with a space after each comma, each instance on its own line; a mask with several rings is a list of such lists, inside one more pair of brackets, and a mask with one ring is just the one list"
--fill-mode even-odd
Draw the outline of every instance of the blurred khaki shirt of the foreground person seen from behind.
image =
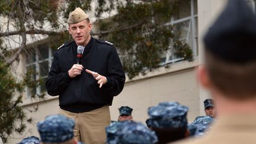
[[216, 119], [209, 132], [174, 142], [177, 144], [252, 144], [256, 143], [256, 113], [234, 114]]

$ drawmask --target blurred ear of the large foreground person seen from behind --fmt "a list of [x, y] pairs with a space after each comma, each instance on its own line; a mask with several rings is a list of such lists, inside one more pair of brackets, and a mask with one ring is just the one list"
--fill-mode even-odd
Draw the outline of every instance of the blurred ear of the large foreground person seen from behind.
[[207, 72], [206, 66], [200, 65], [197, 68], [197, 79], [204, 88], [210, 87], [209, 73]]

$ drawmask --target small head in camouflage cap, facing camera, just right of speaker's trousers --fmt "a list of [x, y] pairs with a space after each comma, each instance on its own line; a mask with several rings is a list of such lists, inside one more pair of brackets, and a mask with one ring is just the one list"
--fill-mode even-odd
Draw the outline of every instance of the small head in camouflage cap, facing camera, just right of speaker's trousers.
[[128, 106], [121, 106], [119, 108], [119, 121], [133, 120], [132, 111], [133, 109]]

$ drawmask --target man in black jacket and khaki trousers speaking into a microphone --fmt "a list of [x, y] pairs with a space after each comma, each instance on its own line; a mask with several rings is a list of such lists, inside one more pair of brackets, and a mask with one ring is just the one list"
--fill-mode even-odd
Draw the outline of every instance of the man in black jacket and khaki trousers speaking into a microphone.
[[[59, 95], [60, 114], [75, 119], [75, 138], [84, 143], [104, 143], [110, 124], [109, 105], [124, 87], [125, 75], [113, 44], [94, 39], [92, 24], [81, 8], [68, 19], [73, 41], [55, 52], [46, 81], [49, 95]], [[78, 46], [84, 47], [78, 59]]]

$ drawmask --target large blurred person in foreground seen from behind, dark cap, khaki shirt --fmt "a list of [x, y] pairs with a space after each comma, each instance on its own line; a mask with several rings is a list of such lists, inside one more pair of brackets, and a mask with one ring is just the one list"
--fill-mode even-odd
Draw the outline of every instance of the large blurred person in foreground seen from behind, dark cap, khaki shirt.
[[204, 37], [198, 78], [212, 94], [217, 120], [207, 135], [180, 143], [256, 142], [256, 15], [245, 0], [229, 0]]

